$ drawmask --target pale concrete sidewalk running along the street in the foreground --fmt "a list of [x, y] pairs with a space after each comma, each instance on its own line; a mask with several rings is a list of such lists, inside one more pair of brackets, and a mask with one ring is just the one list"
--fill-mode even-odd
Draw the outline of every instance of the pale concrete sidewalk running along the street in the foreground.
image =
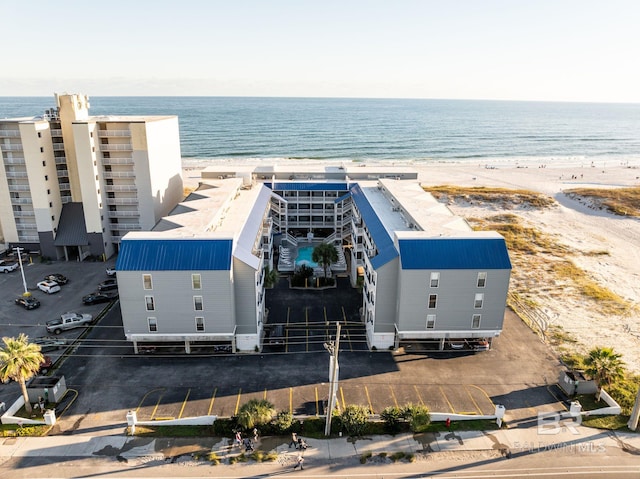
[[[612, 433], [578, 427], [558, 434], [541, 435], [536, 428], [516, 428], [498, 431], [463, 431], [451, 433], [398, 434], [396, 436], [369, 436], [358, 440], [345, 437], [308, 439], [309, 448], [303, 452], [305, 469], [314, 466], [349, 464], [357, 466], [364, 455], [365, 462], [388, 462], [394, 453], [413, 454], [420, 460], [425, 456], [442, 453], [484, 452], [493, 457], [518, 457], [549, 450], [576, 453], [606, 451], [609, 448], [626, 449], [640, 453], [640, 434]], [[207, 462], [208, 452], [216, 452], [222, 466], [228, 458], [241, 453], [240, 448], [229, 446], [224, 438], [145, 438], [124, 435], [84, 436], [61, 435], [46, 437], [15, 437], [0, 441], [0, 459], [26, 457], [104, 458], [128, 466], [142, 463]], [[295, 464], [299, 451], [288, 447], [288, 438], [261, 438], [256, 449], [275, 450], [277, 460], [261, 463], [265, 472], [282, 470]], [[386, 453], [386, 457], [380, 453]], [[408, 461], [400, 459], [399, 463]], [[246, 464], [251, 464], [249, 461]], [[255, 464], [255, 463], [254, 463]]]

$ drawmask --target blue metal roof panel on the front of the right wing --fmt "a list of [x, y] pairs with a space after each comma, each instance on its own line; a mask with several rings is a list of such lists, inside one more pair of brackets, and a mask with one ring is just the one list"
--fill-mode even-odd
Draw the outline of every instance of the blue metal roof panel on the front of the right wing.
[[511, 269], [504, 238], [399, 240], [402, 269]]

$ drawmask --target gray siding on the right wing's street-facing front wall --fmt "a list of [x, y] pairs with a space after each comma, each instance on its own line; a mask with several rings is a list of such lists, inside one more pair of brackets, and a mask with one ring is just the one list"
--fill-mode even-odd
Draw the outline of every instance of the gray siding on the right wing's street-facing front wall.
[[[427, 314], [436, 315], [435, 331], [471, 330], [474, 314], [481, 314], [480, 331], [502, 329], [509, 270], [487, 271], [484, 288], [477, 287], [476, 270], [442, 270], [439, 273], [438, 287], [431, 288], [431, 271], [402, 270], [398, 329], [426, 330]], [[474, 307], [476, 293], [484, 294], [482, 308], [479, 309]], [[428, 308], [430, 294], [437, 295], [435, 309]]]

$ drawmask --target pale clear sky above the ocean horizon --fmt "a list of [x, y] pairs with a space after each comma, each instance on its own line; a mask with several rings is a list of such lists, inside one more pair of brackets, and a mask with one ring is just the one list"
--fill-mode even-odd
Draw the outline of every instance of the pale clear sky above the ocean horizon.
[[638, 0], [0, 0], [0, 96], [640, 102]]

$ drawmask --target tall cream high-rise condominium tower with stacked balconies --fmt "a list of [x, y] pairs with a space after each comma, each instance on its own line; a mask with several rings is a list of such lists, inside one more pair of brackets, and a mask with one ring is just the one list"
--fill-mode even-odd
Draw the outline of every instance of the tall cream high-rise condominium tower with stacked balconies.
[[109, 257], [183, 198], [178, 119], [90, 116], [79, 94], [55, 102], [41, 116], [0, 119], [0, 244]]

